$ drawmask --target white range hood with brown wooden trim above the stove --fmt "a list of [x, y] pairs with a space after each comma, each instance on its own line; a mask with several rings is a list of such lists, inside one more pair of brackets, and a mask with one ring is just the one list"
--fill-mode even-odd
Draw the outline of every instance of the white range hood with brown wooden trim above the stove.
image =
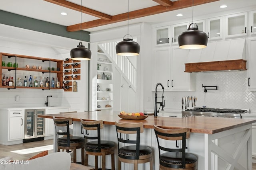
[[190, 50], [185, 72], [246, 70], [245, 38], [208, 42], [204, 49]]

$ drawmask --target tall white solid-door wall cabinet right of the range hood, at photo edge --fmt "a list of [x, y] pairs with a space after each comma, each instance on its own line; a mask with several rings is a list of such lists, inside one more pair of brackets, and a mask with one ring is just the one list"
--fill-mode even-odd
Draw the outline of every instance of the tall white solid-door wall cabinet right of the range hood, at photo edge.
[[248, 47], [248, 55], [246, 56], [247, 60], [247, 90], [256, 91], [256, 38], [248, 38], [246, 41]]

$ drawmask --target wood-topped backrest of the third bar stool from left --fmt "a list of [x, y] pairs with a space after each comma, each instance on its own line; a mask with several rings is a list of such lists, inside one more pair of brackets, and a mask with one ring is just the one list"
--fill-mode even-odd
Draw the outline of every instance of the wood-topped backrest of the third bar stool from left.
[[[135, 156], [124, 156], [118, 154], [119, 157], [125, 159], [139, 159], [140, 155], [140, 133], [143, 133], [143, 123], [118, 123], [116, 122], [116, 135], [118, 139], [118, 152], [120, 149], [119, 143], [136, 144], [136, 155]], [[128, 135], [122, 137], [122, 134], [136, 134], [136, 139], [128, 139]]]

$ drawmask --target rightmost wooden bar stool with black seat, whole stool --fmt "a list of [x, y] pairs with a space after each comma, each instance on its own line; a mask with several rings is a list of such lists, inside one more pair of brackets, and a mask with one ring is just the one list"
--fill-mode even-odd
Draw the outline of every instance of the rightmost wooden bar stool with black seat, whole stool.
[[[154, 131], [158, 143], [159, 170], [197, 170], [197, 157], [192, 153], [186, 153], [186, 139], [190, 137], [189, 128], [163, 129], [154, 125]], [[170, 143], [163, 145], [164, 141], [182, 140], [182, 147], [170, 148]], [[168, 148], [166, 148], [168, 146]], [[162, 150], [162, 152], [161, 152]]]

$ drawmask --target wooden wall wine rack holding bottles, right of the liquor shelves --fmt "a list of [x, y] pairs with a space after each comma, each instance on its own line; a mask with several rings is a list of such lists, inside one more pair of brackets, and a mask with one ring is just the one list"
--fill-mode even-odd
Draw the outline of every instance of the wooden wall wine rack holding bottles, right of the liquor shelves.
[[[66, 64], [68, 64], [66, 66]], [[72, 92], [73, 89], [72, 89], [72, 85], [73, 85], [73, 82], [76, 81], [76, 80], [80, 80], [81, 79], [81, 63], [80, 61], [78, 60], [72, 60], [72, 59], [64, 59], [64, 62], [63, 62], [63, 81], [66, 81], [68, 80], [68, 84], [64, 84], [63, 83], [63, 86], [62, 88], [64, 89], [64, 92]], [[76, 72], [72, 72], [72, 69], [76, 69]], [[65, 70], [67, 70], [68, 72], [65, 72]], [[72, 77], [72, 76], [75, 76], [76, 77]], [[67, 76], [67, 77], [64, 77], [64, 76]], [[66, 88], [66, 86], [68, 86], [68, 88]]]

